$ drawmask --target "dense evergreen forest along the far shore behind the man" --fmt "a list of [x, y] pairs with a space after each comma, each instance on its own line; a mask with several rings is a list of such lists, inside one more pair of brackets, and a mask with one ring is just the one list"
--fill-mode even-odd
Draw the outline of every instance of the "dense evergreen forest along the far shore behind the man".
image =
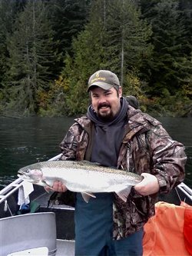
[[156, 116], [192, 116], [191, 0], [0, 0], [0, 115], [86, 113], [113, 71]]

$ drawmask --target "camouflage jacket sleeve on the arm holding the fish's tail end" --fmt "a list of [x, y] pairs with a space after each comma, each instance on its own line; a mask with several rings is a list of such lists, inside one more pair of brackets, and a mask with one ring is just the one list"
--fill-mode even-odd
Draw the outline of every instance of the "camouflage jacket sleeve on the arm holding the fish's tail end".
[[151, 174], [157, 177], [160, 192], [167, 193], [184, 181], [184, 166], [187, 157], [184, 145], [174, 141], [162, 125], [147, 132], [151, 153]]

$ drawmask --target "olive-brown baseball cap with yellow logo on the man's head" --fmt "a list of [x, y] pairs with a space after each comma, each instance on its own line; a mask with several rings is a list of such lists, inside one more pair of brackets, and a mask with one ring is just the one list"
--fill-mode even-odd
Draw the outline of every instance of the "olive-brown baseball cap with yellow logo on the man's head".
[[91, 90], [91, 86], [98, 86], [104, 90], [109, 90], [114, 85], [120, 86], [118, 76], [108, 70], [96, 71], [88, 80], [88, 91]]

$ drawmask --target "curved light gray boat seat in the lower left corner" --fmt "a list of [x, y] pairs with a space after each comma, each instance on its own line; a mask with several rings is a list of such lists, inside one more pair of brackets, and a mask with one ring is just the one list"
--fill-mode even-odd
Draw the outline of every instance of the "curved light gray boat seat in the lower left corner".
[[[48, 255], [57, 251], [55, 213], [39, 212], [0, 219], [0, 255], [18, 251], [48, 248]], [[22, 254], [23, 255], [23, 254]]]

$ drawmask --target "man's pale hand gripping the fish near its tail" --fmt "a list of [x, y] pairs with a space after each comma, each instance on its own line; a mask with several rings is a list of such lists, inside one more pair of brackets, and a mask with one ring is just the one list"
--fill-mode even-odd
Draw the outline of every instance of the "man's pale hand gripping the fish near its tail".
[[155, 194], [159, 191], [159, 183], [154, 175], [149, 173], [142, 173], [141, 176], [144, 177], [143, 181], [134, 186], [134, 189], [142, 195]]

